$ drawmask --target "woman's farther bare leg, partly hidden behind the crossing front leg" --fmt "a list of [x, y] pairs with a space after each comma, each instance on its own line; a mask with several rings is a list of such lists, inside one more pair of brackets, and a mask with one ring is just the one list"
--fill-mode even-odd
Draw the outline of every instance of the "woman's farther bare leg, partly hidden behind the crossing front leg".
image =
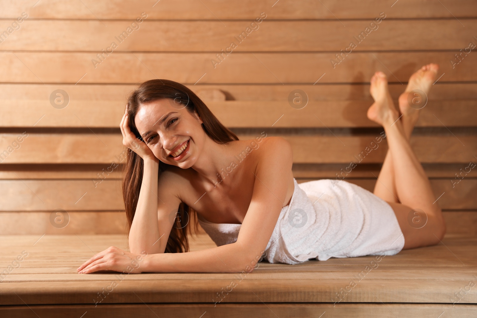
[[[433, 73], [437, 72], [437, 70], [437, 64], [424, 65], [420, 70], [411, 75], [405, 91], [399, 96], [399, 110], [401, 113], [399, 120], [403, 123], [404, 134], [407, 140], [410, 140], [415, 123], [419, 118], [419, 104], [427, 102], [427, 94], [432, 86], [430, 83], [433, 83], [435, 80]], [[375, 77], [372, 78], [372, 81], [374, 78]], [[426, 96], [421, 96], [422, 98], [415, 96], [415, 90], [423, 91]], [[409, 102], [411, 102], [411, 104]], [[394, 180], [393, 157], [389, 150], [384, 158], [383, 166], [379, 172], [373, 193], [385, 201], [399, 203]]]

